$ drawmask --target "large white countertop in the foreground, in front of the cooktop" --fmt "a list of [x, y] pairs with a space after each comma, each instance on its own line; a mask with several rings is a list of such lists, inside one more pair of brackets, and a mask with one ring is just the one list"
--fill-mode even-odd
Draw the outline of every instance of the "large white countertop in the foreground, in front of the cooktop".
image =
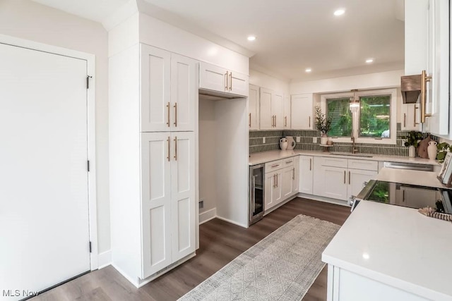
[[452, 300], [452, 223], [362, 201], [322, 261], [432, 300]]

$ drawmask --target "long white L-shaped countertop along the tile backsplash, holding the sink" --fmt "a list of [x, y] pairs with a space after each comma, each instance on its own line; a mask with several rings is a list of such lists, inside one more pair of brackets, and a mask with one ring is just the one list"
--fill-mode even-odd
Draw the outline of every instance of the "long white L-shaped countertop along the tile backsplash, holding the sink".
[[367, 156], [340, 156], [332, 155], [330, 152], [321, 151], [305, 151], [300, 149], [294, 150], [274, 150], [268, 152], [256, 152], [249, 155], [249, 165], [262, 164], [270, 161], [275, 161], [278, 159], [284, 159], [290, 156], [306, 155], [306, 156], [335, 156], [337, 158], [345, 159], [362, 159], [369, 161], [390, 161], [390, 162], [405, 162], [405, 163], [417, 163], [417, 164], [431, 164], [439, 165], [436, 160], [422, 159], [422, 158], [409, 158], [408, 156], [383, 156], [379, 154], [374, 154], [371, 157]]

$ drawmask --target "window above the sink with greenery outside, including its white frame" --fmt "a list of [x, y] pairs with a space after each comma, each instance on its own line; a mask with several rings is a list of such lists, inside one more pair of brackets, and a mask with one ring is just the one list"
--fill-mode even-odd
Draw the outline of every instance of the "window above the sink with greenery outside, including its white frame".
[[[328, 136], [336, 142], [396, 144], [396, 89], [321, 95], [321, 109], [331, 118]], [[359, 107], [350, 109], [350, 99]]]

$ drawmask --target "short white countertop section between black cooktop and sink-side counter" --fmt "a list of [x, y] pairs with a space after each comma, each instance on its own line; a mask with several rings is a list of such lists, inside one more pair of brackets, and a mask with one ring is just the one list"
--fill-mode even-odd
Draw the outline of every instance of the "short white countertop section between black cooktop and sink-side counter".
[[[376, 180], [396, 182], [401, 184], [446, 188], [437, 178], [438, 173], [429, 171], [410, 171], [383, 167], [376, 176]], [[451, 283], [452, 284], [452, 283]]]

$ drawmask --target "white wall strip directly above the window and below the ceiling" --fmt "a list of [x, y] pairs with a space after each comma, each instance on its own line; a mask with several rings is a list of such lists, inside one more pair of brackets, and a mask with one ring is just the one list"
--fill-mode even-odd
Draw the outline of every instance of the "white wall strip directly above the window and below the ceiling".
[[344, 92], [352, 89], [370, 90], [375, 88], [400, 87], [400, 76], [404, 70], [393, 70], [363, 75], [290, 82], [290, 94]]

